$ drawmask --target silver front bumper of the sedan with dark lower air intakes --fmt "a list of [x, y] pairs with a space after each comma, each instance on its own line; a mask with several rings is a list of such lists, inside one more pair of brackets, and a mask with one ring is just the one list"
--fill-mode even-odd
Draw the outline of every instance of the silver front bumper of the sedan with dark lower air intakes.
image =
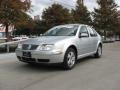
[[[23, 52], [30, 52], [31, 57], [23, 57]], [[24, 51], [17, 49], [16, 56], [20, 61], [34, 63], [61, 63], [64, 59], [64, 53], [57, 51]]]

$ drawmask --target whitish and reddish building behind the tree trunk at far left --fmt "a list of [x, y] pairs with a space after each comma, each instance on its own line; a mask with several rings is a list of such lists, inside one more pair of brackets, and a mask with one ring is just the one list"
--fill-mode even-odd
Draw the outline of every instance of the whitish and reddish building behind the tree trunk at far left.
[[[0, 24], [0, 38], [1, 38], [1, 37], [5, 37], [5, 29], [6, 29], [6, 27], [3, 26], [2, 24]], [[14, 25], [10, 25], [10, 26], [8, 27], [9, 33], [12, 34], [12, 31], [13, 31], [13, 30], [14, 30]]]

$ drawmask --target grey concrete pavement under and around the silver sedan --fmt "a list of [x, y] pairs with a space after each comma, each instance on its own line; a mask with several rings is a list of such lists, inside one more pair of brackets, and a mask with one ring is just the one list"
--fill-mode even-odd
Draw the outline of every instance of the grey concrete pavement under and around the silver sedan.
[[0, 90], [120, 90], [120, 42], [104, 44], [100, 59], [81, 59], [70, 71], [0, 54]]

